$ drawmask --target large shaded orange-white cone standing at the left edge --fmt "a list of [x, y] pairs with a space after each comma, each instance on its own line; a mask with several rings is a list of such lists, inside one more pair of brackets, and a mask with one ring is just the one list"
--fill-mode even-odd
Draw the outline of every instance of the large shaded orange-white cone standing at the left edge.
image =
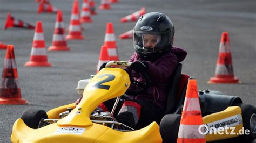
[[0, 86], [0, 104], [26, 104], [19, 87], [18, 71], [16, 67], [14, 46], [8, 45], [6, 50], [2, 84]]

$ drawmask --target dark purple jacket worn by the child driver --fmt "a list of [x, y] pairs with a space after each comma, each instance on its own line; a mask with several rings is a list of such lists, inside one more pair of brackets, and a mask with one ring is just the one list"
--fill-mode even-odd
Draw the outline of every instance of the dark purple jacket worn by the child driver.
[[[145, 94], [137, 96], [129, 96], [129, 99], [141, 99], [144, 101], [151, 101], [156, 103], [163, 111], [165, 110], [166, 104], [166, 95], [167, 95], [167, 80], [170, 75], [173, 73], [174, 68], [177, 65], [177, 62], [181, 62], [185, 59], [187, 52], [179, 47], [173, 47], [169, 53], [161, 56], [159, 59], [149, 63], [149, 68], [147, 69], [147, 74], [151, 79], [150, 87], [147, 89]], [[134, 52], [131, 56], [129, 62], [136, 62], [141, 60], [139, 55]], [[135, 71], [128, 72], [132, 78], [135, 78], [137, 81], [143, 81], [143, 78], [140, 77]], [[136, 88], [136, 87], [130, 87]]]

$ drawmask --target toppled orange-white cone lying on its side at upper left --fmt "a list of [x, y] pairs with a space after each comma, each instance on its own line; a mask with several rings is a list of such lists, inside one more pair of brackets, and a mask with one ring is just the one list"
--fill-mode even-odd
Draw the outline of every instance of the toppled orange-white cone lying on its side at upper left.
[[11, 13], [9, 12], [6, 18], [6, 23], [4, 30], [6, 30], [9, 27], [19, 27], [19, 28], [27, 28], [27, 29], [35, 29], [35, 26], [23, 22], [22, 20], [15, 19], [14, 17], [11, 16]]

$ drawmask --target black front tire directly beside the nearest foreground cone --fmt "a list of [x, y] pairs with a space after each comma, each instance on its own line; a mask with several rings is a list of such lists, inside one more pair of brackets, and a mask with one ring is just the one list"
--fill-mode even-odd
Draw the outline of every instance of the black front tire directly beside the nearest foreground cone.
[[181, 115], [167, 114], [161, 119], [160, 134], [163, 142], [176, 143]]

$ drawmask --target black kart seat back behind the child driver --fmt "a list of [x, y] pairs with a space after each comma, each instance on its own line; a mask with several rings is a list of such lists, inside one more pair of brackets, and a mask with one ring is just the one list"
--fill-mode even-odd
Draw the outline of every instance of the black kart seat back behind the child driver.
[[169, 77], [169, 82], [167, 83], [167, 102], [165, 114], [173, 113], [177, 109], [177, 101], [179, 101], [179, 96], [177, 95], [179, 88], [179, 81], [181, 76], [182, 64], [177, 63], [172, 75]]

